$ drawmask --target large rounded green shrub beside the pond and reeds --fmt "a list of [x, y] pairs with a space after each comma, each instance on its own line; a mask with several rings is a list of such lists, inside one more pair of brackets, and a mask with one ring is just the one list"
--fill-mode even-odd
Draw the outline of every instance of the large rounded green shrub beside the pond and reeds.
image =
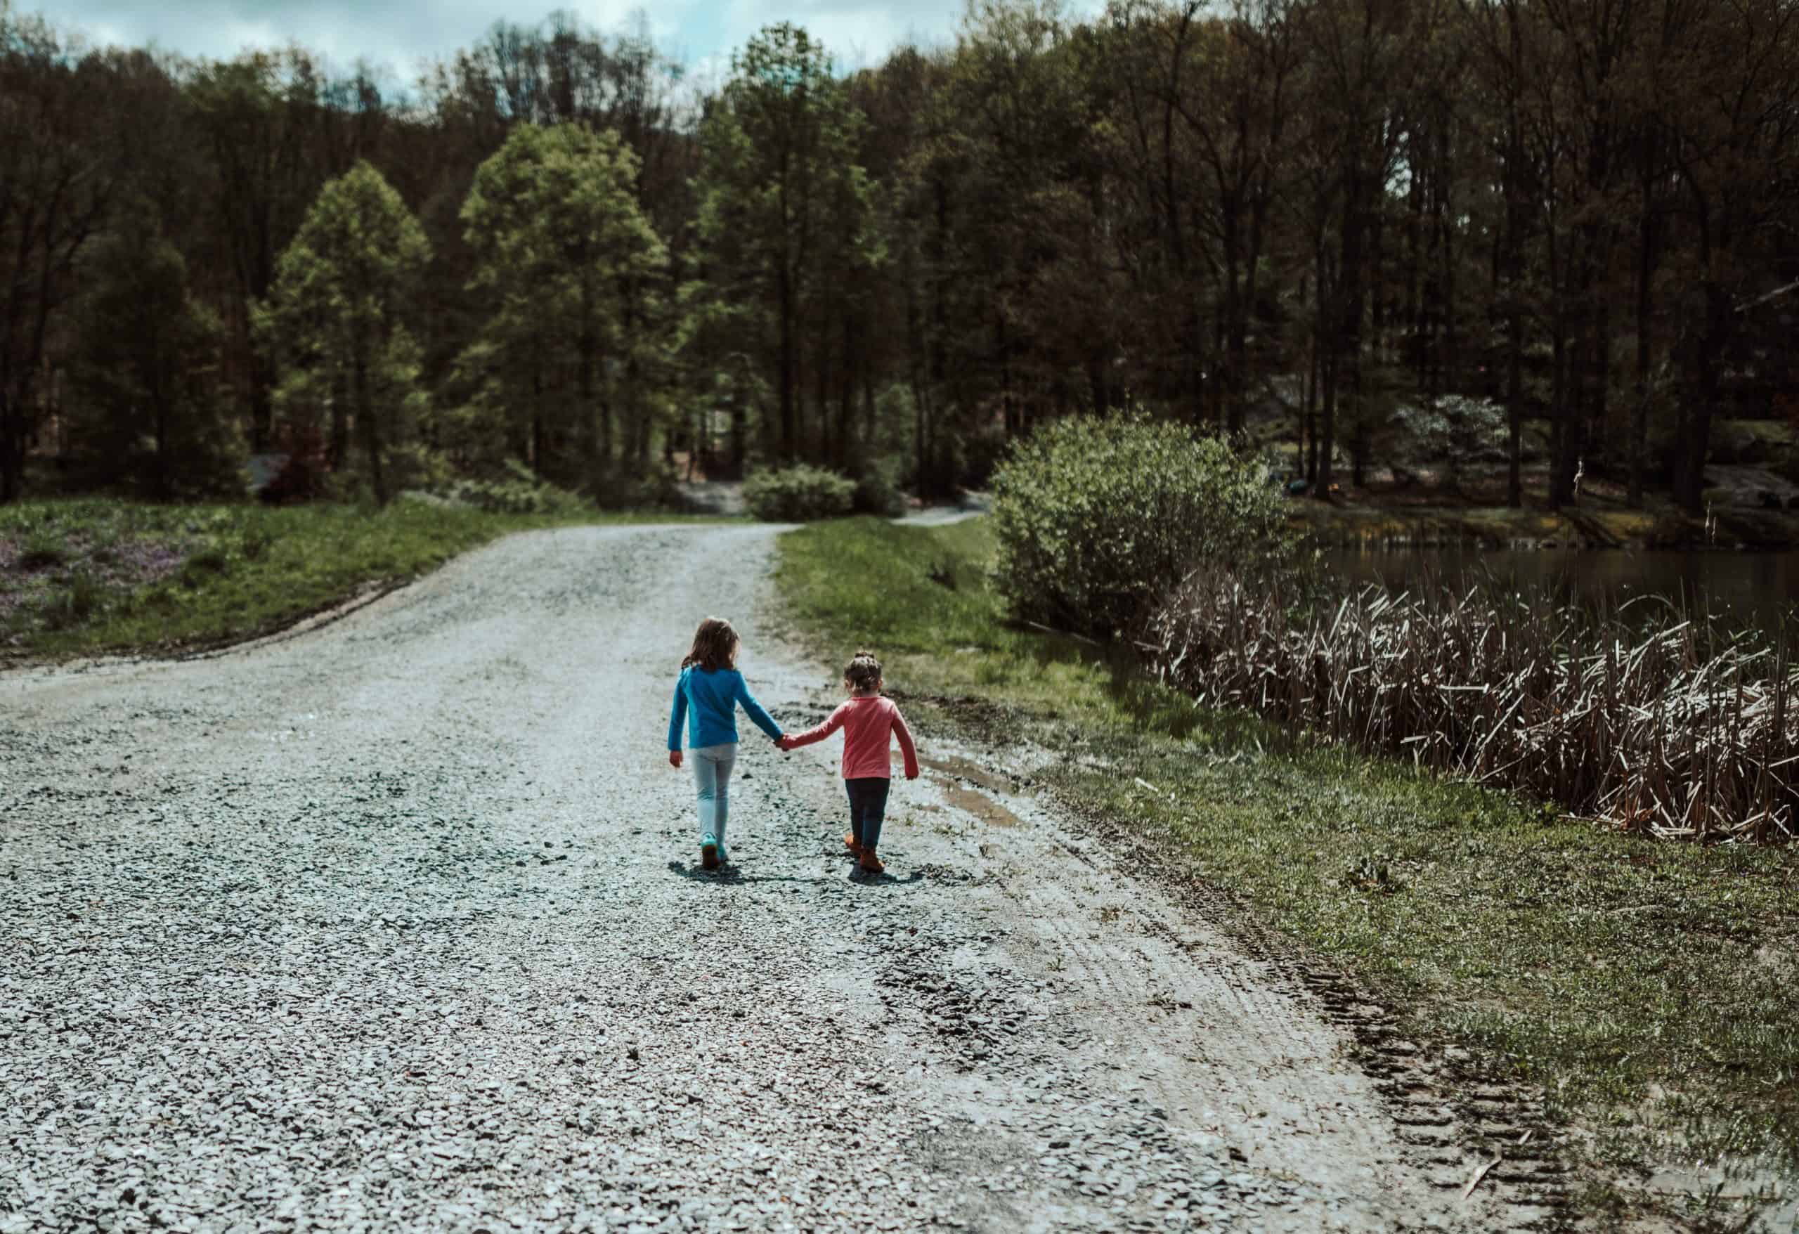
[[993, 473], [998, 586], [1018, 617], [1106, 637], [1198, 565], [1283, 563], [1281, 502], [1256, 461], [1182, 425], [1056, 421]]

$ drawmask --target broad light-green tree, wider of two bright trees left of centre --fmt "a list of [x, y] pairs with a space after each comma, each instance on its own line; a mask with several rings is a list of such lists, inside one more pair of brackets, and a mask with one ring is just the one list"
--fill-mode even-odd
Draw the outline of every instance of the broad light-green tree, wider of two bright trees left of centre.
[[617, 133], [525, 124], [462, 203], [470, 291], [489, 309], [459, 362], [475, 421], [504, 426], [513, 453], [529, 444], [540, 471], [601, 495], [621, 412], [626, 455], [648, 441], [658, 362], [667, 252], [635, 182], [637, 156]]

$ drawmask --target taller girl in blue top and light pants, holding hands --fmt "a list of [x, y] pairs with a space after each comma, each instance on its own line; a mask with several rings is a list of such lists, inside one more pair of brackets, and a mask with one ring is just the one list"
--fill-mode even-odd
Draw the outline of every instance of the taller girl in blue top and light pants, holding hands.
[[738, 631], [723, 617], [707, 617], [693, 635], [693, 649], [680, 662], [675, 711], [669, 714], [669, 766], [680, 766], [682, 720], [687, 720], [687, 752], [693, 781], [700, 790], [700, 865], [716, 871], [727, 860], [725, 818], [730, 813], [730, 768], [738, 761], [738, 703], [756, 727], [781, 743], [777, 725], [750, 694], [738, 673]]

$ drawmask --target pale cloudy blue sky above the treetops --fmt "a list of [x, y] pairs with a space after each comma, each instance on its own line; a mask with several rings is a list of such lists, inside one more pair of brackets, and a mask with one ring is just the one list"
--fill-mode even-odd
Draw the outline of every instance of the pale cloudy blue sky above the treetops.
[[[657, 43], [694, 72], [723, 70], [730, 52], [770, 22], [804, 25], [831, 50], [838, 67], [878, 65], [900, 43], [948, 43], [964, 0], [14, 0], [14, 13], [36, 9], [61, 31], [88, 43], [155, 45], [187, 56], [223, 59], [246, 47], [300, 43], [336, 68], [358, 59], [412, 81], [417, 67], [470, 47], [497, 18], [533, 23], [552, 9], [585, 25], [615, 31], [642, 11]], [[1097, 11], [1099, 0], [1074, 0], [1070, 13]]]

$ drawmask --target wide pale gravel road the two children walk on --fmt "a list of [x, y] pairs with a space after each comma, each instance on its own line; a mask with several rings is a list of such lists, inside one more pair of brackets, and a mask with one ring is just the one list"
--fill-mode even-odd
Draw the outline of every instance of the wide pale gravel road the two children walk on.
[[772, 554], [533, 532], [299, 637], [0, 675], [0, 1230], [1545, 1216], [1464, 1202], [1448, 1110], [1024, 752], [923, 730], [867, 883], [835, 745], [748, 739], [736, 871], [698, 871], [662, 743], [694, 621], [784, 725], [837, 702]]

